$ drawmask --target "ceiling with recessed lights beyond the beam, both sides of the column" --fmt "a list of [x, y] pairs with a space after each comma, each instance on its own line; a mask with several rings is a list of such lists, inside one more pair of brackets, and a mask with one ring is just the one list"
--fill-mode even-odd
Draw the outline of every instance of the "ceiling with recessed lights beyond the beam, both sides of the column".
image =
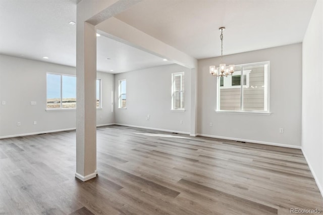
[[[76, 21], [76, 2], [0, 0], [0, 53], [75, 67], [76, 25], [69, 22]], [[121, 73], [168, 64], [172, 62], [116, 40], [97, 37], [98, 71]]]

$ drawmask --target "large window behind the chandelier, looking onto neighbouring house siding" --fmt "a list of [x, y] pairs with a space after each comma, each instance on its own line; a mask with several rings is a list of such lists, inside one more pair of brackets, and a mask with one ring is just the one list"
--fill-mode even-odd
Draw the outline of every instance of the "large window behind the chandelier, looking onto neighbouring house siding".
[[237, 65], [232, 76], [218, 78], [217, 111], [269, 111], [269, 62]]

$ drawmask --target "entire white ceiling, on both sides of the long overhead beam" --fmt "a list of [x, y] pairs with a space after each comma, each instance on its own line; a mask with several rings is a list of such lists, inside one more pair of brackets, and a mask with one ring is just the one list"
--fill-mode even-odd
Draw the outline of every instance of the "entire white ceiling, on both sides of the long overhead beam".
[[[116, 18], [197, 58], [301, 42], [316, 0], [144, 0]], [[0, 53], [74, 66], [77, 0], [0, 0]], [[48, 60], [42, 57], [48, 57]], [[107, 60], [106, 58], [111, 58]], [[97, 69], [119, 73], [171, 64], [97, 37]]]

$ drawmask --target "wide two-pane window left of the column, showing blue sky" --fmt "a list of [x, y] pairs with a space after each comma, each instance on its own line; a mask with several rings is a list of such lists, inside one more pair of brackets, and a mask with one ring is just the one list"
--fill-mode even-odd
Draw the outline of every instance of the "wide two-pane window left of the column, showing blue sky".
[[76, 77], [47, 73], [47, 109], [76, 108]]

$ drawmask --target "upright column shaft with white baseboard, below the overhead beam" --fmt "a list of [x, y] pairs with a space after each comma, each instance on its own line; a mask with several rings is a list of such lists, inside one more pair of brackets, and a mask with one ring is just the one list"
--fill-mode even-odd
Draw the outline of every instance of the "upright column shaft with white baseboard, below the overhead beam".
[[[82, 20], [82, 19], [78, 19]], [[76, 33], [76, 173], [82, 181], [96, 177], [96, 30], [77, 22]]]

